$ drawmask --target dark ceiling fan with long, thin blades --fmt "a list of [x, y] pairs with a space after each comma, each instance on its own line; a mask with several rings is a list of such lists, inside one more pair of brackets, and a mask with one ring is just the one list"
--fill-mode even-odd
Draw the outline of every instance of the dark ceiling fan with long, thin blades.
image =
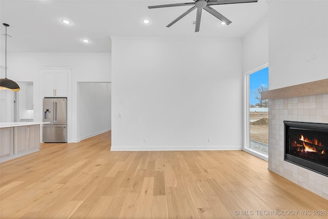
[[232, 22], [216, 10], [214, 10], [210, 5], [227, 5], [227, 4], [236, 4], [236, 3], [254, 3], [258, 0], [194, 0], [194, 2], [191, 3], [177, 3], [177, 4], [168, 4], [168, 5], [154, 5], [154, 6], [148, 6], [149, 9], [153, 8], [168, 8], [168, 7], [176, 7], [176, 6], [187, 6], [187, 5], [193, 5], [189, 10], [187, 10], [185, 13], [178, 16], [173, 22], [167, 25], [167, 27], [171, 27], [174, 25], [177, 21], [179, 21], [182, 17], [186, 16], [193, 10], [197, 8], [197, 14], [196, 14], [196, 27], [195, 32], [199, 31], [200, 27], [200, 17], [201, 17], [201, 11], [202, 9], [206, 10], [213, 16], [220, 19], [220, 21], [226, 23], [227, 25], [230, 25]]

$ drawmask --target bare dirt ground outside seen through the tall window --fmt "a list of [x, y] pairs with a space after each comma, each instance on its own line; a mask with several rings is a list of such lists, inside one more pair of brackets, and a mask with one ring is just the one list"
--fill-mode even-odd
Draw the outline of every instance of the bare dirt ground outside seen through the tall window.
[[269, 144], [268, 112], [250, 112], [250, 140]]

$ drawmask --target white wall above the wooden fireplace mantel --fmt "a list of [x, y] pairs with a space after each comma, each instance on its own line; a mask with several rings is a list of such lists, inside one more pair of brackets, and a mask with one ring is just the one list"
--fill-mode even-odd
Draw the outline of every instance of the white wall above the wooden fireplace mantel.
[[271, 1], [269, 23], [270, 90], [328, 77], [328, 1]]

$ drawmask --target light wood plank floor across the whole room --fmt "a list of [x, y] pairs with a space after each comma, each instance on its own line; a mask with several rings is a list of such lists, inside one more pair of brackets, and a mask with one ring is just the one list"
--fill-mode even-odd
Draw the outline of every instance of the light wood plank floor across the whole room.
[[1, 164], [1, 218], [327, 218], [313, 210], [328, 200], [243, 151], [111, 152], [110, 139]]

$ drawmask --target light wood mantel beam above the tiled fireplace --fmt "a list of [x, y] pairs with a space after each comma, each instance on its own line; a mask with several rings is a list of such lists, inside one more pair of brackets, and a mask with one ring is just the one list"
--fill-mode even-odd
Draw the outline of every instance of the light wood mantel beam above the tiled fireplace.
[[328, 93], [328, 79], [309, 82], [261, 93], [261, 99], [282, 99]]

